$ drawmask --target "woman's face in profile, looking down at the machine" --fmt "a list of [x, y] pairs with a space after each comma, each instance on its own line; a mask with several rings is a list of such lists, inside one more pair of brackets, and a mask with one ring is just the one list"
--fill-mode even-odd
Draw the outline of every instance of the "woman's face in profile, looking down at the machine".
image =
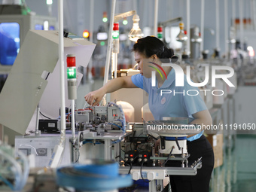
[[140, 74], [142, 74], [145, 78], [151, 78], [152, 69], [148, 66], [152, 65], [149, 63], [152, 62], [152, 59], [146, 58], [144, 54], [137, 51], [134, 52], [134, 58], [138, 64], [137, 69], [139, 70]]

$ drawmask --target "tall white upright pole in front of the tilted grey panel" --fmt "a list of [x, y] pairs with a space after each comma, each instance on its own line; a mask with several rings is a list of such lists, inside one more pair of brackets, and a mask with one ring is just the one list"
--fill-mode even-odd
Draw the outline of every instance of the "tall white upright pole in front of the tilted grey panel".
[[63, 0], [59, 0], [59, 81], [60, 81], [60, 98], [61, 98], [61, 130], [60, 143], [64, 145], [66, 131], [66, 106], [65, 106], [65, 78], [64, 78], [64, 39], [63, 39]]

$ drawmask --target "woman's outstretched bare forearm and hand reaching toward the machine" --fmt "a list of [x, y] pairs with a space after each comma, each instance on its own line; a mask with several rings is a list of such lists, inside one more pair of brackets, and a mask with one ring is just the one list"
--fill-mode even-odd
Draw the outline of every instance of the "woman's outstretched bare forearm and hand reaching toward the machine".
[[103, 87], [99, 88], [99, 90], [92, 91], [84, 96], [84, 99], [90, 105], [97, 105], [105, 95], [105, 93], [112, 93], [121, 88], [137, 88], [135, 84], [133, 84], [132, 76], [114, 78], [111, 81], [108, 81]]

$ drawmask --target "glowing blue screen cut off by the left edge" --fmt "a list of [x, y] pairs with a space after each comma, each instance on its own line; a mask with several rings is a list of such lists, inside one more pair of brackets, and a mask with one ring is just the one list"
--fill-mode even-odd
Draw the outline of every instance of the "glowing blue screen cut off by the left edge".
[[13, 65], [19, 50], [19, 23], [0, 23], [0, 63], [2, 65]]

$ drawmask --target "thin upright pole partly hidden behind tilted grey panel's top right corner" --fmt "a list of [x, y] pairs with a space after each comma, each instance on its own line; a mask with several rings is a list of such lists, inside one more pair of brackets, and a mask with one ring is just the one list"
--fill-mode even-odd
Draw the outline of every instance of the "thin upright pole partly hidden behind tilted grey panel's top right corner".
[[[94, 0], [90, 0], [90, 36], [89, 41], [93, 42], [93, 19], [94, 19]], [[89, 81], [92, 80], [92, 68], [93, 68], [93, 60], [90, 59], [89, 67], [88, 67], [88, 79]]]

